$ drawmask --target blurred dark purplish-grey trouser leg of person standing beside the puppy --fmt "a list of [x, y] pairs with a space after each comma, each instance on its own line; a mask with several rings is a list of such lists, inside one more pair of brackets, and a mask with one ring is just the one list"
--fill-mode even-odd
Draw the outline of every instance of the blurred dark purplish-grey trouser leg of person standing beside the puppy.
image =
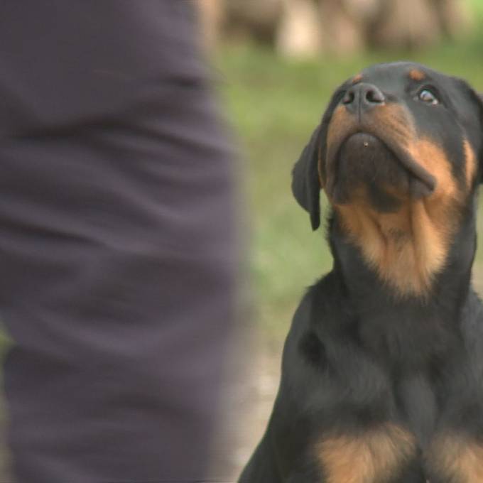
[[232, 165], [189, 3], [0, 4], [0, 316], [21, 483], [207, 477]]

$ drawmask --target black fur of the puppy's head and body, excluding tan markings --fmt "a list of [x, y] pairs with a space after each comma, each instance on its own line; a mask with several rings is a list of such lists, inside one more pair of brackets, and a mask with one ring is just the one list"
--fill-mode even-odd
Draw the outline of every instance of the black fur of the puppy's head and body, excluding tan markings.
[[[438, 91], [440, 105], [416, 99], [414, 92], [425, 81], [408, 80], [411, 69], [424, 72]], [[318, 457], [320, 441], [334, 435], [357, 438], [388, 423], [411, 434], [416, 451], [391, 472], [351, 483], [477, 481], [465, 479], [431, 455], [440, 435], [456, 435], [470, 447], [483, 445], [483, 309], [471, 285], [477, 180], [482, 171], [481, 100], [466, 82], [420, 65], [377, 65], [363, 75], [380, 87], [388, 102], [402, 103], [411, 111], [418, 135], [435, 140], [450, 159], [452, 177], [461, 190], [463, 139], [476, 155], [477, 173], [470, 188], [465, 188], [447, 261], [423, 298], [397, 296], [381, 281], [347, 237], [337, 212], [332, 212], [328, 241], [333, 269], [309, 288], [295, 312], [273, 413], [240, 483], [339, 483]], [[337, 89], [293, 169], [293, 193], [309, 212], [313, 229], [320, 224], [320, 159], [322, 178], [327, 176], [323, 172], [327, 127], [350, 86], [347, 81]], [[354, 160], [344, 156], [345, 164], [339, 161], [344, 166], [339, 183], [347, 190], [353, 183], [348, 171], [358, 156]], [[400, 170], [411, 184], [411, 175]], [[384, 196], [374, 195], [371, 202], [380, 211], [396, 210]], [[459, 457], [455, 452], [454, 458]], [[483, 460], [478, 465], [481, 473], [470, 466], [465, 471], [476, 478], [483, 474]]]

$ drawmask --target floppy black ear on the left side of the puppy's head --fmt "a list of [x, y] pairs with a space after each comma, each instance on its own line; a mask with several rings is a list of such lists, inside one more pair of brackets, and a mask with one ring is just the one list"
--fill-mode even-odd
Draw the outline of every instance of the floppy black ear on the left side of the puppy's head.
[[309, 212], [312, 229], [320, 226], [320, 181], [318, 173], [321, 126], [315, 129], [292, 170], [292, 192]]

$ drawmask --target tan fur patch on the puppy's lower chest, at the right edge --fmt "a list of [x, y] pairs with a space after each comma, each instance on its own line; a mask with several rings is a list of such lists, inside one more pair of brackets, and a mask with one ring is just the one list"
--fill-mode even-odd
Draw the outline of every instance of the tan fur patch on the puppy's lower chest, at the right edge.
[[483, 445], [461, 435], [440, 435], [425, 456], [428, 466], [444, 481], [483, 482]]

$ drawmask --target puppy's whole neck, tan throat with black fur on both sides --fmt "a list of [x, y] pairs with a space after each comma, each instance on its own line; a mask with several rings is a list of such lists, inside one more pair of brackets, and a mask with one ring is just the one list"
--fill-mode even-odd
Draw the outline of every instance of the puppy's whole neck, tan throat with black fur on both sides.
[[425, 307], [446, 297], [443, 292], [452, 299], [467, 290], [476, 250], [476, 197], [470, 205], [458, 215], [444, 206], [430, 212], [423, 202], [394, 214], [338, 207], [329, 237], [335, 269], [349, 293], [362, 299], [384, 294], [388, 303]]

